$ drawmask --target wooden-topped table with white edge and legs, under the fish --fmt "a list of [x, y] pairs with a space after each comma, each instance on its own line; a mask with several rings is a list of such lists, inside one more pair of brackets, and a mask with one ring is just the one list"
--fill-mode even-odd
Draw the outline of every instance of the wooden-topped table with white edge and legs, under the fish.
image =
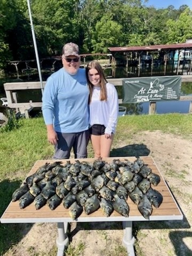
[[[152, 169], [153, 173], [156, 173], [160, 176], [160, 183], [157, 186], [153, 186], [155, 190], [160, 192], [163, 196], [163, 202], [159, 208], [154, 208], [150, 216], [149, 221], [155, 220], [182, 220], [183, 215], [179, 209], [178, 204], [174, 200], [170, 189], [168, 188], [164, 178], [162, 177], [158, 167], [156, 166], [153, 158], [151, 156], [140, 156], [144, 161], [144, 164], [147, 164], [148, 167]], [[122, 162], [125, 159], [128, 159], [130, 162], [136, 160], [135, 157], [116, 157], [116, 158], [104, 158], [106, 162], [112, 162], [114, 159], [119, 159]], [[65, 164], [66, 161], [74, 163], [77, 159], [64, 159], [61, 160], [62, 164]], [[80, 161], [93, 162], [95, 158], [85, 158], [79, 159]], [[52, 163], [56, 160], [39, 160], [32, 167], [28, 176], [33, 174], [38, 170], [40, 166], [43, 166], [46, 162]], [[86, 215], [84, 212], [78, 217], [77, 220], [72, 220], [69, 215], [69, 210], [65, 209], [63, 204], [60, 204], [55, 210], [50, 210], [48, 205], [43, 206], [39, 210], [36, 210], [34, 204], [30, 204], [24, 209], [20, 209], [18, 201], [10, 202], [8, 208], [5, 210], [4, 214], [1, 217], [1, 223], [36, 223], [36, 222], [57, 222], [58, 223], [58, 254], [57, 256], [62, 256], [64, 249], [68, 245], [68, 237], [66, 236], [67, 224], [68, 222], [120, 222], [122, 221], [124, 228], [124, 237], [123, 244], [126, 246], [128, 255], [134, 256], [134, 237], [132, 236], [132, 222], [133, 221], [147, 221], [144, 218], [136, 204], [128, 197], [127, 203], [130, 208], [129, 216], [124, 217], [114, 211], [109, 217], [104, 216], [101, 209], [98, 209], [96, 212], [93, 212], [90, 215]]]

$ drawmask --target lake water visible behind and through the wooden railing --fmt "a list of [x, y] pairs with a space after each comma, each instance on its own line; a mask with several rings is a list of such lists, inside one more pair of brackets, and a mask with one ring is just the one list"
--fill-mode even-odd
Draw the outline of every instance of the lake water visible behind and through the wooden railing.
[[[158, 67], [160, 69], [160, 67]], [[126, 77], [134, 77], [134, 74], [130, 74], [127, 72], [125, 67], [118, 67], [115, 70], [111, 68], [104, 69], [104, 73], [106, 78], [126, 78]], [[50, 76], [50, 72], [42, 73], [43, 81], [46, 81], [48, 76]], [[160, 72], [158, 76], [160, 76]], [[150, 76], [150, 70], [144, 73], [144, 76]], [[157, 76], [157, 74], [156, 74]], [[38, 81], [38, 75], [32, 74], [25, 77], [21, 77], [24, 82], [26, 81]], [[6, 78], [3, 80], [2, 83], [5, 82], [13, 82], [15, 79], [13, 78]], [[1, 86], [2, 88], [2, 86]], [[117, 86], [118, 96], [122, 98], [122, 87]], [[192, 96], [192, 82], [183, 82], [181, 86], [181, 95], [190, 95]], [[2, 89], [0, 92], [0, 97], [4, 97], [5, 92]], [[33, 90], [30, 92], [28, 90], [18, 91], [17, 92], [18, 102], [28, 102], [32, 100], [33, 102], [41, 101], [41, 92], [40, 90]], [[25, 99], [25, 100], [23, 100]], [[136, 103], [136, 104], [120, 104], [120, 106], [125, 106], [127, 108], [127, 114], [148, 114], [149, 103]], [[166, 114], [166, 113], [188, 113], [190, 108], [190, 101], [159, 101], [156, 103], [156, 113], [157, 114]]]

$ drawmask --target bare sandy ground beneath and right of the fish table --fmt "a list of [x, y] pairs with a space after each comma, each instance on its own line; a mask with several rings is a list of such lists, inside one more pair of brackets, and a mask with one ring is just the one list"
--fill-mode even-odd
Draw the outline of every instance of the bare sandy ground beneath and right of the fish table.
[[[183, 220], [133, 223], [136, 256], [192, 255], [192, 138], [143, 132], [118, 147], [133, 154], [151, 155], [184, 215]], [[112, 150], [113, 152], [113, 150]], [[56, 255], [56, 224], [26, 224], [20, 242], [5, 256]], [[121, 223], [70, 225], [66, 256], [125, 256]]]

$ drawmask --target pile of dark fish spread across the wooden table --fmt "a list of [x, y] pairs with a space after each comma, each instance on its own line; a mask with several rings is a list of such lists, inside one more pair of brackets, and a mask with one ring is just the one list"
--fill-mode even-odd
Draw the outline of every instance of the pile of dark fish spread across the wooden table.
[[129, 196], [144, 218], [149, 219], [152, 206], [158, 208], [163, 200], [151, 187], [159, 182], [160, 176], [152, 173], [139, 157], [134, 162], [96, 159], [92, 163], [46, 163], [14, 191], [12, 201], [19, 200], [21, 209], [34, 202], [37, 210], [45, 204], [54, 210], [62, 203], [75, 220], [83, 210], [91, 214], [99, 208], [107, 217], [114, 210], [128, 217]]

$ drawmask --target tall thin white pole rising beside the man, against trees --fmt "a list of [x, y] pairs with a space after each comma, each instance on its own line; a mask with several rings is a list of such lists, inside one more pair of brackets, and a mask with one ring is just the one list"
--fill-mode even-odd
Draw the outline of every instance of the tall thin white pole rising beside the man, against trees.
[[39, 74], [40, 85], [41, 85], [41, 92], [43, 94], [43, 81], [42, 81], [42, 76], [41, 76], [41, 68], [40, 68], [40, 62], [39, 62], [39, 56], [38, 56], [35, 32], [34, 32], [32, 15], [31, 15], [30, 0], [27, 0], [27, 4], [28, 4], [28, 11], [29, 11], [29, 17], [30, 17], [30, 23], [31, 23], [31, 32], [32, 32], [32, 37], [33, 37], [33, 44], [34, 44], [34, 48], [35, 48], [35, 55], [36, 55], [36, 61], [37, 61], [38, 74]]

